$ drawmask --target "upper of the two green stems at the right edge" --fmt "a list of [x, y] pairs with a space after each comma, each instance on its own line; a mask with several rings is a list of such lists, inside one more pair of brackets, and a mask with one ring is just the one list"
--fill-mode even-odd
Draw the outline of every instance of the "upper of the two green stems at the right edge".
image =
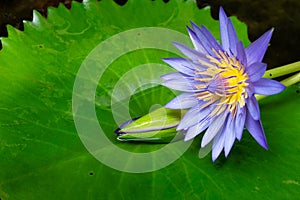
[[300, 61], [284, 65], [282, 67], [277, 67], [274, 69], [267, 70], [264, 74], [264, 78], [276, 78], [279, 76], [287, 75], [293, 72], [300, 71]]

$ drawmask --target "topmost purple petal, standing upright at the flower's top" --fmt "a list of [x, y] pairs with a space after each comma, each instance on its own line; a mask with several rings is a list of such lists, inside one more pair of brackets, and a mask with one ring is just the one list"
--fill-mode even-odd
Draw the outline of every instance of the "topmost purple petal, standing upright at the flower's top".
[[220, 7], [219, 21], [220, 21], [222, 46], [226, 52], [229, 52], [229, 37], [228, 37], [228, 30], [227, 30], [228, 18], [222, 7]]

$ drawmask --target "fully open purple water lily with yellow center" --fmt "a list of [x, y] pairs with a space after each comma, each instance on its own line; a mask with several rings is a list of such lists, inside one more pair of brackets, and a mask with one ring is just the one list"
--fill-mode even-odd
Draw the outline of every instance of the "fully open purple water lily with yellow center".
[[244, 126], [268, 149], [254, 94], [272, 95], [285, 89], [277, 81], [262, 78], [267, 68], [262, 59], [273, 30], [244, 48], [222, 8], [219, 21], [222, 45], [205, 26], [191, 22], [188, 33], [194, 49], [174, 43], [188, 58], [163, 59], [178, 72], [162, 76], [164, 86], [184, 92], [165, 107], [189, 109], [177, 130], [186, 132], [187, 141], [207, 129], [201, 148], [212, 142], [213, 161], [223, 149], [228, 156], [235, 139], [241, 140]]

